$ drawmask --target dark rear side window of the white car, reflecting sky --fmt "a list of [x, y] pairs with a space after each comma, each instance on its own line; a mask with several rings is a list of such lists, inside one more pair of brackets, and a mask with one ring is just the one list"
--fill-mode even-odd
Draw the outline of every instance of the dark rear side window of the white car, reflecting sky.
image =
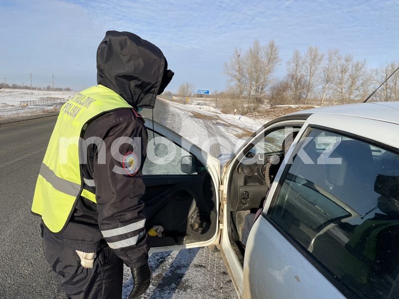
[[399, 298], [399, 155], [319, 129], [301, 144], [269, 219], [356, 296]]

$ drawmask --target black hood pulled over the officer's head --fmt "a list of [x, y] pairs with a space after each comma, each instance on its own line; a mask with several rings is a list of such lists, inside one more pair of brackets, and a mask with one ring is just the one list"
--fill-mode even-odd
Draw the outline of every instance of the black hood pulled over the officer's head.
[[130, 32], [107, 31], [97, 49], [97, 83], [134, 108], [154, 108], [174, 73], [162, 51]]

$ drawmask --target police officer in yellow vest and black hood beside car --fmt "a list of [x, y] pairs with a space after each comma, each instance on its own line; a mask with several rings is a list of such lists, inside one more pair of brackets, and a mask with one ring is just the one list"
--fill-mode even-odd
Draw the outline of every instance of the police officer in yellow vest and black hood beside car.
[[130, 32], [107, 31], [97, 86], [62, 107], [37, 178], [32, 212], [43, 251], [67, 298], [121, 298], [123, 263], [133, 290], [150, 285], [141, 169], [154, 108], [174, 73], [162, 51]]

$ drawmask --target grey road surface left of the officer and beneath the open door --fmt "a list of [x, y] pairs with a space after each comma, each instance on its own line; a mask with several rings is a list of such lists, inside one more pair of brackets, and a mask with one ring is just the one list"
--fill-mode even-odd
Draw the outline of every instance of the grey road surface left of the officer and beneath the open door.
[[[146, 117], [151, 117], [145, 112]], [[151, 111], [150, 111], [151, 112]], [[179, 117], [159, 101], [154, 118], [172, 128]], [[42, 255], [39, 219], [30, 213], [34, 186], [56, 117], [0, 126], [0, 298], [63, 298]], [[144, 298], [236, 298], [220, 252], [208, 248], [154, 254]], [[125, 269], [124, 297], [131, 288]]]

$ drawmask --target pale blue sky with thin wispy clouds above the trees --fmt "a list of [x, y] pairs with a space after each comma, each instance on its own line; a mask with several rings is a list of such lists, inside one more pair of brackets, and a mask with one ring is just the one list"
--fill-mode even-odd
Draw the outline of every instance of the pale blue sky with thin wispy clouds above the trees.
[[234, 48], [273, 39], [282, 77], [293, 51], [318, 46], [366, 59], [399, 61], [399, 0], [0, 0], [0, 81], [81, 90], [96, 84], [96, 49], [107, 30], [157, 45], [175, 77], [195, 88], [226, 87]]

